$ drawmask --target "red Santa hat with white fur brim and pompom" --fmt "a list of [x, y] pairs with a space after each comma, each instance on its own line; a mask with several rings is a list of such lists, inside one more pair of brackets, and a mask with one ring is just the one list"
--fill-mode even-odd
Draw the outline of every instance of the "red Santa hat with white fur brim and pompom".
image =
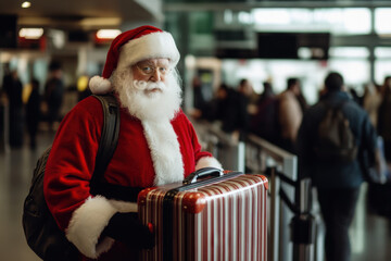
[[89, 82], [89, 88], [96, 95], [110, 92], [112, 85], [109, 78], [115, 69], [155, 58], [166, 58], [175, 67], [179, 57], [174, 38], [167, 32], [150, 25], [124, 32], [112, 41], [102, 76], [93, 76]]

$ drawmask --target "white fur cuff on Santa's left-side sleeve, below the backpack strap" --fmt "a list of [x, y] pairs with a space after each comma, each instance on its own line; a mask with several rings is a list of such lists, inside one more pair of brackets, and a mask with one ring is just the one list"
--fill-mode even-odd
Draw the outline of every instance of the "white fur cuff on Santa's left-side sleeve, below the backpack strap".
[[65, 231], [66, 238], [86, 257], [97, 259], [109, 251], [114, 239], [101, 238], [101, 233], [116, 212], [135, 212], [137, 204], [116, 200], [108, 200], [102, 196], [88, 198], [73, 213]]

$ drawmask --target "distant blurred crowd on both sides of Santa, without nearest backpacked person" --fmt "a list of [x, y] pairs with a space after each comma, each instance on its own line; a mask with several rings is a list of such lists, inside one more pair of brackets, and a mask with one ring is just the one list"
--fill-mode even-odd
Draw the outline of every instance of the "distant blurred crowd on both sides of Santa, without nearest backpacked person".
[[[46, 122], [49, 129], [61, 121], [65, 86], [62, 78], [62, 66], [59, 62], [51, 62], [48, 67], [48, 78], [42, 83], [33, 78], [28, 84], [28, 95], [24, 98], [22, 82], [16, 70], [5, 70], [1, 94], [9, 104], [9, 142], [12, 147], [23, 145], [23, 133], [27, 129], [29, 145], [36, 147], [38, 124]], [[78, 100], [90, 95], [87, 87], [78, 91]], [[286, 89], [275, 92], [272, 82], [264, 82], [263, 91], [256, 94], [250, 79], [242, 78], [237, 86], [222, 83], [209, 95], [202, 90], [202, 83], [195, 80], [193, 85], [194, 111], [192, 116], [211, 122], [218, 122], [222, 129], [235, 139], [242, 139], [245, 134], [255, 134], [287, 151], [297, 153], [297, 136], [305, 111], [310, 108], [302, 92], [299, 77], [287, 78]], [[79, 83], [78, 83], [79, 85]], [[315, 88], [315, 86], [314, 86]], [[362, 96], [353, 88], [344, 87], [351, 99], [362, 107], [369, 115], [371, 124], [378, 135], [383, 138], [384, 152], [391, 161], [391, 76], [384, 78], [382, 85], [368, 84], [364, 86]], [[324, 89], [319, 91], [319, 98]]]

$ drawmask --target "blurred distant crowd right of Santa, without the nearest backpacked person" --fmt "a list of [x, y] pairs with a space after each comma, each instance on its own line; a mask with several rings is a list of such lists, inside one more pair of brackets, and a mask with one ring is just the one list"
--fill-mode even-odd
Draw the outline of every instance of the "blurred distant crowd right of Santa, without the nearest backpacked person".
[[[343, 88], [368, 113], [384, 140], [386, 157], [391, 161], [391, 121], [387, 117], [391, 113], [391, 76], [387, 76], [382, 85], [365, 85], [362, 96], [354, 88]], [[255, 94], [252, 83], [245, 78], [240, 79], [238, 86], [220, 84], [210, 100], [202, 97], [200, 83], [193, 85], [193, 116], [220, 122], [222, 129], [234, 137], [252, 133], [287, 151], [297, 152], [298, 130], [310, 108], [300, 78], [288, 78], [286, 89], [279, 94], [275, 92], [270, 82], [264, 82], [262, 94]], [[320, 89], [319, 98], [324, 92]]]

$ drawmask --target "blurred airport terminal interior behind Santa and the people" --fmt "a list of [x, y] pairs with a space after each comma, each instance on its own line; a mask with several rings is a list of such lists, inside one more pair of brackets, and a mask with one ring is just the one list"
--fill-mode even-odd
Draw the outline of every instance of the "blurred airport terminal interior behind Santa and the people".
[[[366, 107], [366, 97], [387, 88], [386, 79], [391, 77], [390, 1], [0, 0], [0, 260], [40, 260], [27, 246], [22, 226], [36, 162], [51, 146], [62, 117], [90, 95], [88, 80], [102, 73], [113, 38], [146, 24], [169, 32], [176, 41], [182, 110], [203, 148], [227, 170], [269, 178], [267, 260], [326, 261], [316, 189], [298, 185], [301, 197], [297, 197], [297, 190], [267, 172], [276, 167], [297, 181], [297, 154], [256, 132], [245, 132], [247, 137], [225, 132], [210, 113], [222, 86], [238, 90], [241, 79], [252, 87], [250, 100], [255, 102], [267, 87], [277, 97], [287, 89], [288, 79], [295, 78], [307, 108], [318, 101], [326, 75], [338, 72], [352, 99], [371, 116], [374, 108]], [[51, 66], [61, 69], [64, 86], [54, 120], [45, 102]], [[13, 104], [4, 89], [4, 79], [13, 73], [22, 96], [17, 122], [10, 121]], [[41, 96], [42, 116], [33, 142], [26, 108], [34, 88]], [[249, 115], [256, 113], [254, 104], [248, 107]], [[370, 117], [374, 126], [376, 119]], [[390, 162], [388, 167], [390, 174]], [[384, 186], [391, 189], [390, 184], [391, 175]], [[279, 189], [312, 213], [311, 243], [292, 241], [293, 213], [287, 198], [276, 192]], [[371, 189], [362, 185], [349, 231], [352, 261], [391, 260], [391, 197], [379, 202], [382, 211], [375, 210], [368, 200]]]

